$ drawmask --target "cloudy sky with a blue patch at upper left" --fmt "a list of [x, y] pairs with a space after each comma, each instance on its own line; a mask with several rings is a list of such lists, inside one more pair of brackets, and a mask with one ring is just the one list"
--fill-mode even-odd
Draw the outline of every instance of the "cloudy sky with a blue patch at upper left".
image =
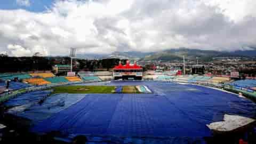
[[8, 0], [0, 52], [13, 56], [256, 47], [255, 0]]

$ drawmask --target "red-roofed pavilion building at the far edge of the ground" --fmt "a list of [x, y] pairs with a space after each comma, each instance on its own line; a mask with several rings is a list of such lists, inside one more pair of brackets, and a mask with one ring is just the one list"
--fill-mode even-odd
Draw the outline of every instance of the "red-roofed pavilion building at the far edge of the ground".
[[135, 62], [134, 64], [130, 64], [130, 61], [126, 61], [126, 65], [122, 65], [119, 62], [118, 66], [113, 68], [113, 77], [114, 79], [142, 79], [142, 67], [138, 66]]

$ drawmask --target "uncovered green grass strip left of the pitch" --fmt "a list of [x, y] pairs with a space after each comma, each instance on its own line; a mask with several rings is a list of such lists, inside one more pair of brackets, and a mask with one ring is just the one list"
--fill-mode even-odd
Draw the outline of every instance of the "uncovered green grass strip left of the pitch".
[[53, 94], [55, 93], [115, 93], [115, 86], [57, 86], [53, 87]]

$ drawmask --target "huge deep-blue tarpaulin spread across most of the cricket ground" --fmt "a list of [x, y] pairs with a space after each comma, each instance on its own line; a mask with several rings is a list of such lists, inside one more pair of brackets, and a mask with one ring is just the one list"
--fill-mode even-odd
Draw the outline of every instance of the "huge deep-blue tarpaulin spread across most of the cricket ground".
[[[31, 127], [31, 131], [59, 131], [67, 137], [143, 137], [135, 143], [203, 143], [203, 137], [212, 136], [206, 124], [222, 121], [224, 114], [256, 116], [256, 105], [252, 101], [203, 86], [166, 82], [100, 82], [84, 85], [145, 85], [153, 93], [81, 94], [84, 97], [71, 102], [72, 105], [54, 111], [45, 119], [41, 118]], [[54, 99], [55, 96], [47, 99]], [[68, 96], [73, 97], [73, 94]], [[46, 104], [48, 107], [51, 102]], [[45, 105], [42, 105], [42, 111], [47, 112]], [[36, 105], [36, 109], [40, 109], [40, 106]], [[23, 111], [23, 114], [33, 119], [36, 115], [30, 112], [26, 114]], [[157, 141], [162, 137], [166, 137], [167, 141]]]

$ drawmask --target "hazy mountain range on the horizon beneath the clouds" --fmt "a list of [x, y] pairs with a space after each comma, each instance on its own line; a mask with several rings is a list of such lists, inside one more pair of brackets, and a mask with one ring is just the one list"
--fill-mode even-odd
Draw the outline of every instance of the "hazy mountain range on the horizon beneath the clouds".
[[80, 59], [131, 59], [131, 60], [182, 60], [185, 55], [188, 60], [195, 60], [196, 58], [201, 60], [212, 60], [215, 57], [256, 57], [256, 50], [245, 50], [245, 51], [213, 51], [213, 50], [198, 50], [198, 49], [170, 49], [161, 52], [113, 52], [111, 54], [77, 54], [77, 58]]

